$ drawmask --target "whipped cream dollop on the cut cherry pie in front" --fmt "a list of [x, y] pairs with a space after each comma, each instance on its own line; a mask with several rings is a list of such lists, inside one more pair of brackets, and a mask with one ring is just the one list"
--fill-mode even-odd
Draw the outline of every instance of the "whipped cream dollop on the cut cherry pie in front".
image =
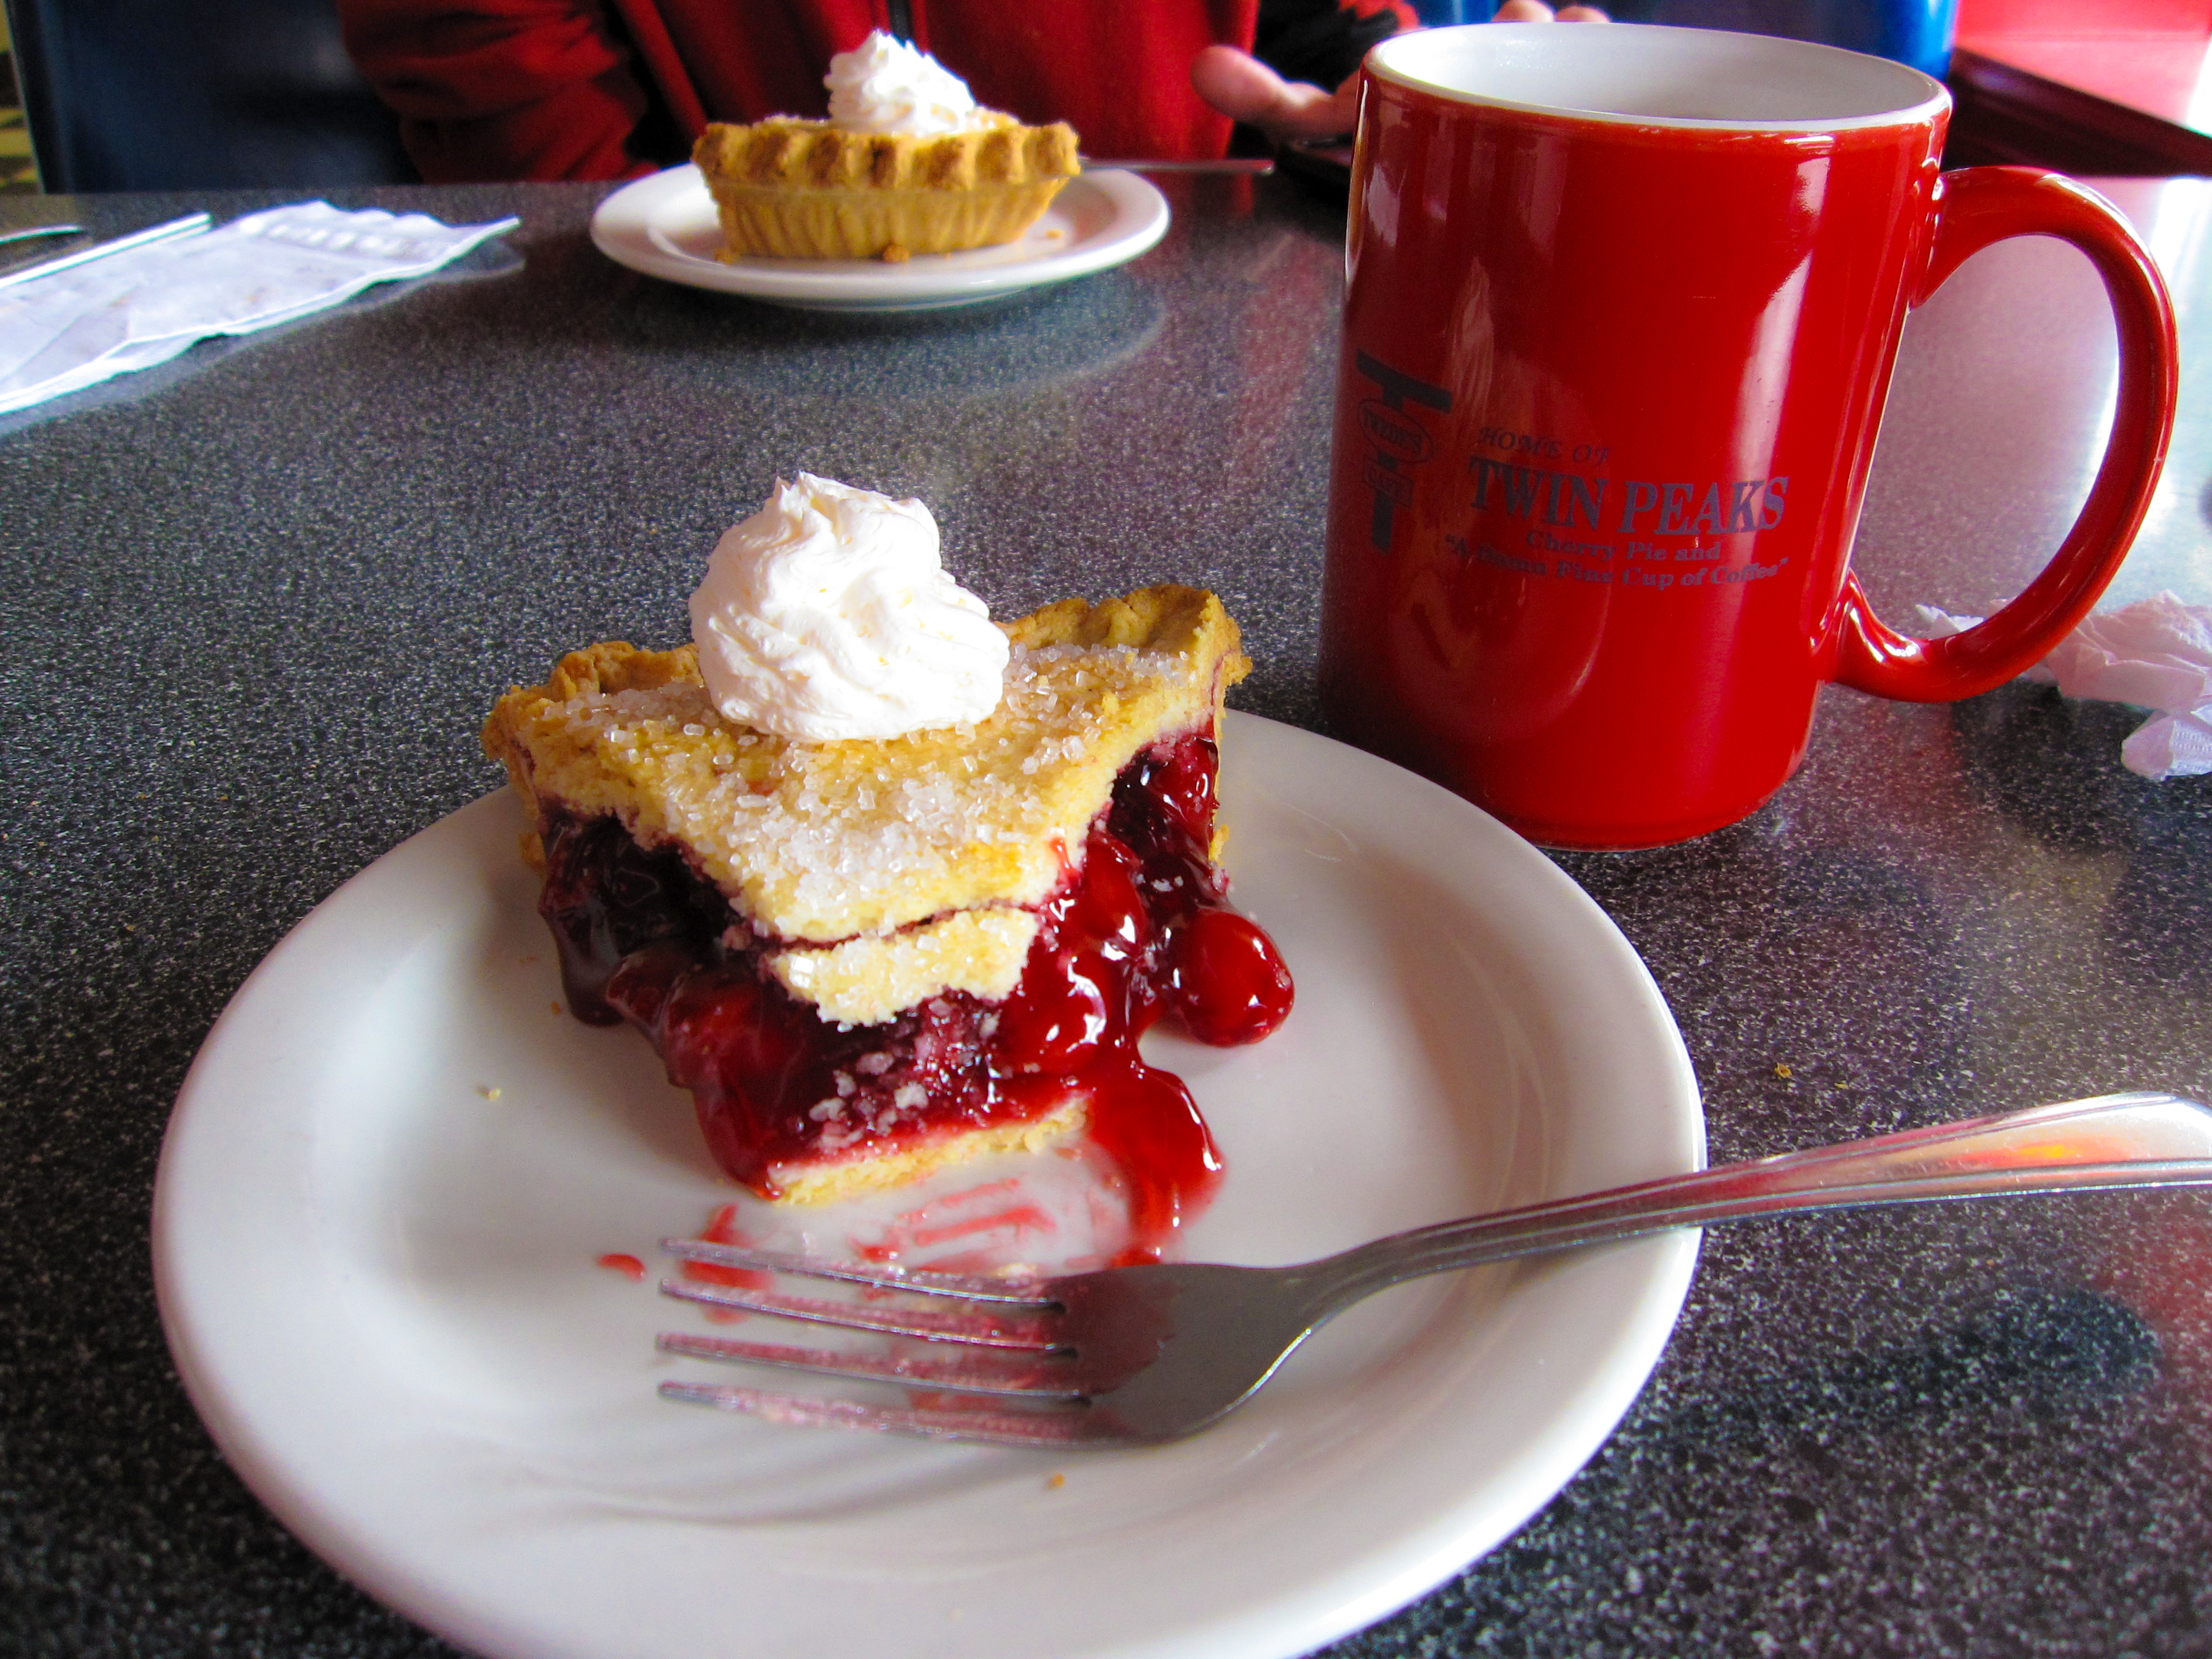
[[714, 708], [776, 737], [978, 721], [1004, 688], [1006, 635], [947, 575], [929, 509], [814, 473], [723, 533], [690, 613]]

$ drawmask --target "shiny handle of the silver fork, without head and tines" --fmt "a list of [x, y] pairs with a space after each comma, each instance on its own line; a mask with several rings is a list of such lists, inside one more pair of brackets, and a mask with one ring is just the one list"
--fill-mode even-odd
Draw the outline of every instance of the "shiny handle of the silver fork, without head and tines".
[[2097, 1095], [1442, 1221], [1310, 1263], [1307, 1272], [1316, 1298], [1336, 1312], [1407, 1279], [1670, 1228], [1796, 1210], [2188, 1183], [2212, 1183], [2212, 1108], [2163, 1093]]

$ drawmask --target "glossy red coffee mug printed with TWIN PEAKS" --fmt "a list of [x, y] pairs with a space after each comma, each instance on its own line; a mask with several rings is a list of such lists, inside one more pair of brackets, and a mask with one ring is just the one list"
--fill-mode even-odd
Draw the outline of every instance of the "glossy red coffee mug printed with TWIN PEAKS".
[[[2128, 551], [2174, 418], [2150, 257], [2053, 173], [1938, 175], [1951, 100], [1832, 46], [1478, 24], [1367, 58], [1321, 695], [1352, 741], [1533, 841], [1652, 847], [1765, 801], [1840, 681], [2011, 679]], [[2104, 465], [2057, 557], [1909, 639], [1849, 571], [1905, 312], [2048, 234], [2119, 325]]]

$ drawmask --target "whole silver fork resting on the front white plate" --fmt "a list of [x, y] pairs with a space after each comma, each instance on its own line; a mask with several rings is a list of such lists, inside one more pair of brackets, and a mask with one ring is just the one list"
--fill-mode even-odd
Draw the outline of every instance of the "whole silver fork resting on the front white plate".
[[1765, 1214], [2185, 1183], [2212, 1183], [2212, 1110], [2181, 1095], [2139, 1093], [2033, 1106], [1444, 1221], [1292, 1267], [1150, 1263], [1004, 1281], [666, 1239], [664, 1248], [688, 1261], [876, 1292], [860, 1301], [818, 1301], [664, 1281], [668, 1296], [956, 1349], [949, 1356], [845, 1354], [668, 1332], [659, 1338], [666, 1354], [1002, 1400], [894, 1407], [708, 1383], [661, 1383], [661, 1396], [774, 1422], [938, 1440], [1152, 1444], [1203, 1429], [1252, 1398], [1334, 1314], [1425, 1274]]

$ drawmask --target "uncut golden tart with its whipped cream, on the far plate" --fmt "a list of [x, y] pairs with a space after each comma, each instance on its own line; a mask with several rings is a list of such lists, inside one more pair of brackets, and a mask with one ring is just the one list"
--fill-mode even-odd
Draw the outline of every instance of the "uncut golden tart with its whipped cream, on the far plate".
[[1018, 239], [1082, 170], [1075, 128], [978, 108], [876, 31], [830, 60], [830, 119], [714, 122], [692, 146], [723, 259], [885, 259]]

